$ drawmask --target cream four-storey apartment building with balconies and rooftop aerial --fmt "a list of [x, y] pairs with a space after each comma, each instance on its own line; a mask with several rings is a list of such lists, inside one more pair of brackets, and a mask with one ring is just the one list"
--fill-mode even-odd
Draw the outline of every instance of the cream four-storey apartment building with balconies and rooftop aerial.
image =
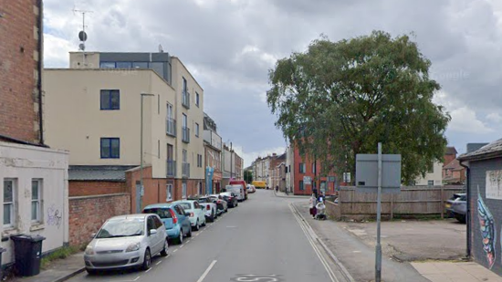
[[70, 189], [82, 170], [113, 171], [133, 212], [202, 190], [204, 91], [179, 58], [70, 53], [70, 66], [44, 73], [47, 143], [70, 151]]

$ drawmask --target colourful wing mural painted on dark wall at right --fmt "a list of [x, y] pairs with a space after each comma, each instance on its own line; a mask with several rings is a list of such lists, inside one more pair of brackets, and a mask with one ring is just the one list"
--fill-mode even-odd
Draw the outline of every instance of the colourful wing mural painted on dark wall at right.
[[488, 261], [488, 268], [491, 269], [495, 263], [495, 240], [496, 230], [493, 215], [488, 210], [481, 194], [479, 193], [479, 186], [477, 187], [477, 217], [479, 219], [479, 229], [483, 238], [483, 250], [486, 253], [486, 260]]

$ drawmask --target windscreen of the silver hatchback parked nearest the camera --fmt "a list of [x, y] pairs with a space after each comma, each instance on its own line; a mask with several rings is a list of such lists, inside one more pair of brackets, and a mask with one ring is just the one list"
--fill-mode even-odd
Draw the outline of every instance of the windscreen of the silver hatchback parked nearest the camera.
[[108, 221], [99, 230], [96, 238], [116, 238], [144, 234], [144, 218], [117, 219]]

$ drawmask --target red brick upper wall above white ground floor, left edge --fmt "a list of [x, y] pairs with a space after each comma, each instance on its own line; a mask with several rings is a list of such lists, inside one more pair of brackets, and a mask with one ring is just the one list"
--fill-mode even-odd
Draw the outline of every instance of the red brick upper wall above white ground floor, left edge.
[[0, 134], [30, 142], [39, 132], [37, 3], [0, 0]]

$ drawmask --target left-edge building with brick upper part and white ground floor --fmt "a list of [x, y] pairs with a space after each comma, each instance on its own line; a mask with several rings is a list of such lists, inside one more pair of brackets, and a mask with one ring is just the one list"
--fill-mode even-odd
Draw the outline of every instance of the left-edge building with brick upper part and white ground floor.
[[[0, 1], [0, 209], [2, 267], [13, 236], [42, 235], [42, 253], [68, 244], [68, 151], [47, 147], [42, 2]], [[3, 254], [2, 254], [3, 253]]]

